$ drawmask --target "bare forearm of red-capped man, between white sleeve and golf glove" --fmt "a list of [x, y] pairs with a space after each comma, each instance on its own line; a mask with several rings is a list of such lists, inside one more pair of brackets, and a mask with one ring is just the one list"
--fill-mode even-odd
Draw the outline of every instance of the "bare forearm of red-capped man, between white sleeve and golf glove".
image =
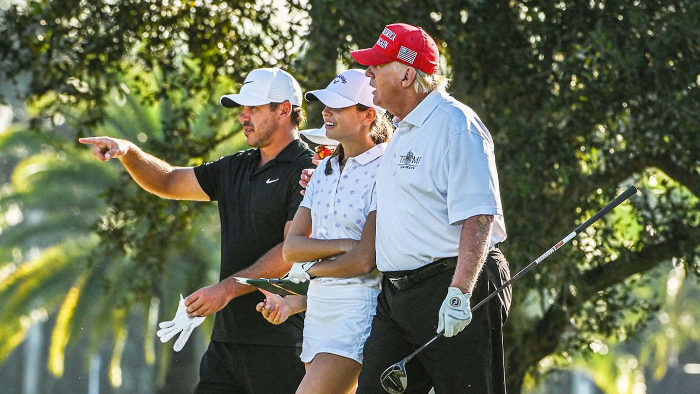
[[492, 229], [493, 215], [477, 215], [465, 219], [451, 287], [458, 287], [464, 293], [471, 294], [474, 291], [489, 250]]

